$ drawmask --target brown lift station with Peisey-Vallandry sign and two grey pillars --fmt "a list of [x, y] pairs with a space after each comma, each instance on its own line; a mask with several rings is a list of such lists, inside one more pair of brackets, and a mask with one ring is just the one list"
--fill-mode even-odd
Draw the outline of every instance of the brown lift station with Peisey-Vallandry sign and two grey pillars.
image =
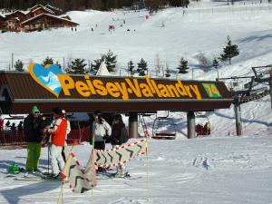
[[182, 81], [145, 77], [65, 74], [56, 66], [31, 64], [29, 73], [0, 73], [2, 114], [27, 114], [33, 105], [51, 113], [121, 112], [129, 115], [131, 138], [138, 137], [138, 115], [187, 112], [188, 138], [195, 137], [195, 112], [228, 109], [233, 102], [223, 82]]

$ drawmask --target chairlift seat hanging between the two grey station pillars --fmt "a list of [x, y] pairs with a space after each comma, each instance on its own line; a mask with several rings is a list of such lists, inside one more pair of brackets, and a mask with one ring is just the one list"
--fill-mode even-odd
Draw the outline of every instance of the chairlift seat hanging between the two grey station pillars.
[[[172, 132], [165, 132], [165, 131], [158, 131], [161, 125], [165, 125], [163, 121], [169, 121], [168, 125], [172, 126], [175, 131]], [[174, 140], [176, 139], [176, 124], [172, 118], [169, 117], [169, 111], [167, 112], [166, 116], [158, 117], [156, 114], [156, 119], [153, 122], [152, 126], [152, 137], [153, 139], [165, 139], [165, 140]]]

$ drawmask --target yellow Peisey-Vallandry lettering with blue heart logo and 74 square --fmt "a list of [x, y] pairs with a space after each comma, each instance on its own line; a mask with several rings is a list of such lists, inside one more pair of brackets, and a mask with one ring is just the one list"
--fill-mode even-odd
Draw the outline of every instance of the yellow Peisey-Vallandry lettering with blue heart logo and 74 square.
[[[182, 83], [180, 80], [154, 80], [149, 76], [141, 78], [112, 78], [106, 82], [100, 78], [92, 78], [84, 74], [81, 78], [74, 79], [55, 64], [47, 64], [45, 67], [39, 63], [31, 63], [29, 73], [36, 83], [39, 83], [57, 98], [63, 91], [64, 96], [73, 98], [72, 92], [77, 92], [83, 98], [116, 98], [128, 101], [130, 99], [197, 99], [221, 98], [216, 83]], [[200, 87], [199, 87], [200, 85]], [[200, 92], [200, 90], [205, 92]], [[206, 93], [206, 94], [205, 94]], [[204, 95], [203, 95], [204, 94]]]

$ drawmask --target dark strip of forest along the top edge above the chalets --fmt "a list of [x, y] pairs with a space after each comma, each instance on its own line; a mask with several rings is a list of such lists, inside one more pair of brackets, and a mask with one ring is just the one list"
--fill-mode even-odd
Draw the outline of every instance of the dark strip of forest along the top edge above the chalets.
[[63, 12], [85, 9], [110, 11], [122, 7], [148, 8], [154, 12], [165, 6], [187, 6], [189, 0], [0, 0], [0, 9], [7, 11], [27, 10], [39, 4], [53, 5], [63, 9]]

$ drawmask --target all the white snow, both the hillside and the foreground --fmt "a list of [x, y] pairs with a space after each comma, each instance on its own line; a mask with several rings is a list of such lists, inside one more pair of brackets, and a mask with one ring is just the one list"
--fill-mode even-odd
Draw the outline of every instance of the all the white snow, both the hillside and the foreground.
[[[0, 34], [0, 66], [8, 69], [12, 53], [15, 61], [23, 60], [26, 69], [28, 63], [42, 63], [46, 56], [53, 57], [62, 67], [64, 62], [67, 67], [71, 59], [79, 57], [91, 62], [112, 50], [117, 54], [117, 66], [121, 70], [116, 75], [127, 75], [127, 63], [130, 60], [139, 63], [144, 58], [151, 76], [157, 77], [154, 67], [156, 56], [159, 56], [160, 64], [166, 67], [168, 63], [171, 77], [176, 78], [175, 67], [182, 56], [189, 60], [190, 67], [188, 74], [179, 75], [182, 80], [192, 77], [215, 80], [218, 73], [215, 70], [204, 73], [196, 56], [203, 53], [212, 61], [222, 52], [228, 35], [232, 43], [238, 44], [240, 55], [231, 65], [219, 67], [220, 77], [252, 76], [252, 66], [271, 64], [272, 9], [266, 2], [226, 5], [226, 2], [205, 1], [193, 3], [184, 11], [170, 8], [151, 15], [148, 20], [144, 17], [148, 14], [145, 10], [69, 12], [67, 15], [80, 24], [76, 32], [60, 28]], [[115, 25], [112, 33], [108, 31], [110, 24]], [[149, 141], [148, 162], [145, 157], [138, 157], [128, 164], [131, 176], [141, 176], [140, 180], [98, 180], [93, 192], [84, 194], [73, 194], [65, 185], [63, 203], [272, 203], [270, 97], [242, 104], [241, 113], [242, 137], [235, 136], [235, 115], [231, 106], [215, 112], [201, 112], [211, 123], [211, 136], [187, 140], [186, 112], [170, 112], [171, 120], [162, 121], [158, 131], [177, 131], [177, 139]], [[167, 112], [159, 114], [163, 116]], [[155, 117], [145, 119], [150, 132]], [[128, 118], [124, 121], [128, 124]], [[206, 121], [206, 118], [196, 118], [197, 123]], [[143, 135], [141, 125], [139, 131]], [[90, 146], [77, 146], [75, 153], [84, 166]], [[24, 167], [26, 150], [0, 150], [0, 158], [1, 171], [13, 161]], [[47, 168], [46, 148], [41, 168]], [[56, 203], [59, 192], [60, 185], [56, 182], [19, 181], [7, 179], [0, 173], [0, 203]]]

